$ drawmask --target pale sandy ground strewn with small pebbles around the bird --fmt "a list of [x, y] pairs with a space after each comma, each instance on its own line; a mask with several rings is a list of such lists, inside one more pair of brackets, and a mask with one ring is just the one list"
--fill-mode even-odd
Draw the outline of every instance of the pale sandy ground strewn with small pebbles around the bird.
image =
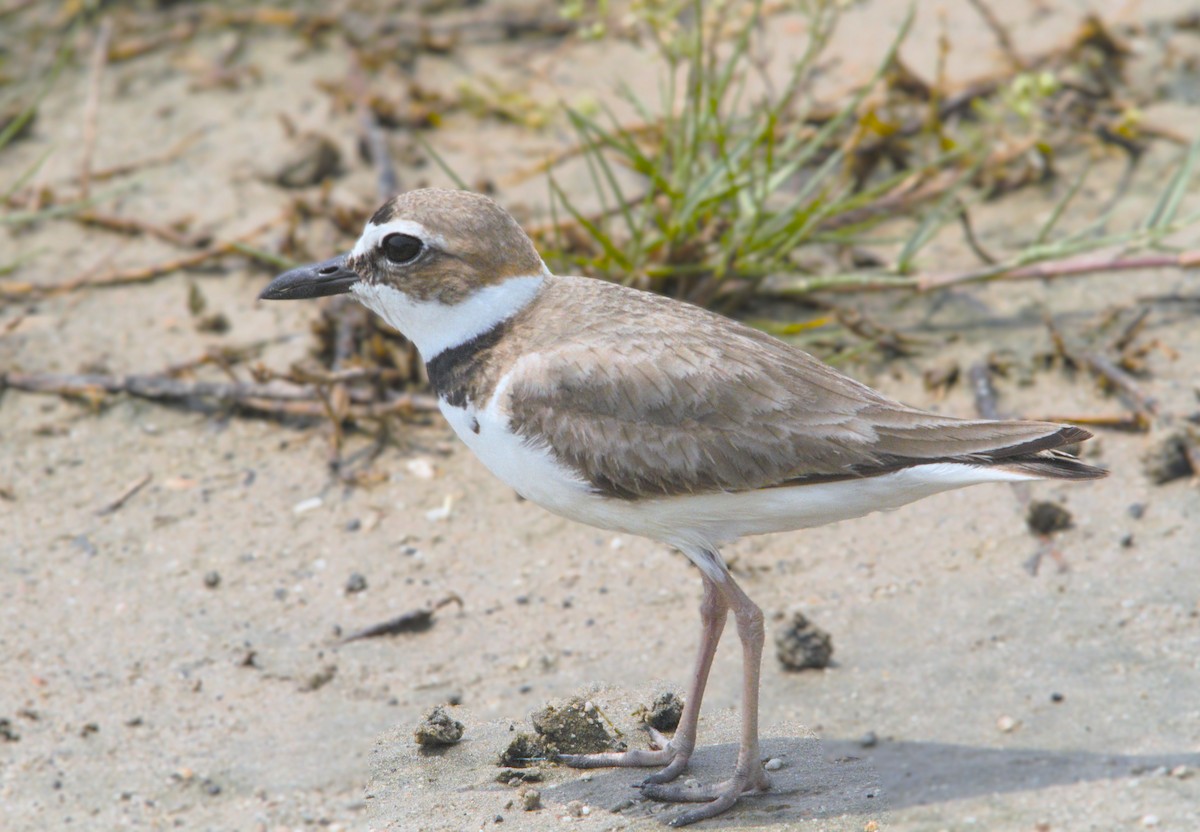
[[[1027, 43], [1054, 42], [1078, 23], [1080, 4], [1050, 5], [1062, 8], [1038, 17], [1013, 4]], [[1165, 16], [1183, 4], [1153, 6]], [[1127, 18], [1150, 7], [1102, 6]], [[874, 4], [857, 18], [857, 44], [884, 42], [901, 8]], [[923, 5], [923, 20], [932, 13]], [[998, 60], [965, 14], [953, 58], [964, 78]], [[918, 23], [906, 55], [928, 65], [935, 40]], [[870, 66], [854, 44], [839, 47], [847, 72]], [[270, 219], [287, 198], [259, 175], [287, 151], [280, 113], [335, 137], [348, 160], [335, 196], [367, 198], [373, 176], [354, 155], [353, 119], [316, 86], [344, 73], [344, 49], [304, 50], [265, 31], [241, 59], [257, 79], [193, 90], [190, 61], [226, 46], [202, 36], [109, 68], [97, 166], [198, 136], [181, 157], [139, 173], [119, 211], [190, 216], [220, 239]], [[521, 77], [532, 60], [551, 67], [542, 80], [605, 94], [595, 78], [634, 72], [626, 58], [562, 41], [488, 43], [421, 56], [413, 71], [452, 86], [481, 71]], [[70, 181], [85, 83], [83, 68], [66, 71], [34, 136], [5, 151], [6, 180], [49, 149], [38, 175]], [[1154, 113], [1184, 134], [1200, 127], [1194, 102]], [[502, 178], [562, 138], [485, 126], [460, 115], [432, 134], [470, 181]], [[1154, 174], [1176, 152], [1151, 152], [1129, 216], [1148, 210]], [[1120, 164], [1106, 164], [1115, 178]], [[401, 175], [406, 186], [443, 181], [431, 168]], [[539, 187], [499, 196], [535, 211]], [[982, 211], [980, 227], [1010, 238], [1055, 198], [1026, 192]], [[5, 228], [0, 240], [0, 259], [31, 256], [13, 277], [38, 283], [172, 253], [72, 222]], [[938, 256], [968, 262], [953, 240]], [[264, 361], [286, 366], [304, 354], [316, 310], [257, 303], [268, 276], [227, 259], [137, 287], [10, 303], [0, 307], [0, 367], [156, 371], [264, 336], [278, 339]], [[192, 325], [191, 282], [228, 317], [228, 333]], [[850, 370], [913, 403], [970, 414], [968, 390], [934, 401], [922, 371], [997, 347], [1046, 349], [1043, 310], [1086, 321], [1172, 293], [1193, 303], [1151, 307], [1146, 337], [1176, 351], [1150, 357], [1154, 431], [1092, 443], [1094, 461], [1114, 472], [1104, 481], [1033, 487], [1074, 516], [1055, 538], [1066, 570], [1025, 568], [1038, 543], [1004, 486], [730, 549], [772, 629], [798, 605], [836, 652], [828, 670], [792, 674], [768, 650], [762, 722], [764, 753], [782, 762], [776, 788], [708, 827], [1200, 826], [1200, 499], [1194, 480], [1154, 486], [1140, 462], [1196, 411], [1194, 274], [995, 286], [936, 305], [880, 300], [876, 312], [912, 331], [967, 335]], [[1118, 407], [1086, 377], [1057, 371], [1001, 393], [1002, 407], [1027, 415]], [[518, 503], [437, 420], [386, 450], [377, 462], [386, 481], [374, 487], [331, 481], [325, 455], [319, 427], [2, 394], [0, 485], [12, 498], [0, 499], [0, 828], [654, 828], [676, 812], [632, 800], [640, 772], [551, 768], [538, 784], [544, 808], [527, 813], [517, 790], [496, 782], [494, 762], [514, 728], [528, 730], [532, 710], [577, 693], [641, 742], [634, 706], [680, 689], [691, 662], [700, 592], [684, 559]], [[98, 514], [146, 475], [121, 508]], [[355, 573], [366, 588], [348, 592]], [[338, 640], [451, 594], [461, 607], [442, 607], [424, 633]], [[706, 698], [701, 740], [715, 744], [697, 755], [698, 780], [732, 759], [738, 674], [727, 644]], [[418, 752], [413, 728], [448, 701], [461, 702], [452, 711], [464, 741]]]

